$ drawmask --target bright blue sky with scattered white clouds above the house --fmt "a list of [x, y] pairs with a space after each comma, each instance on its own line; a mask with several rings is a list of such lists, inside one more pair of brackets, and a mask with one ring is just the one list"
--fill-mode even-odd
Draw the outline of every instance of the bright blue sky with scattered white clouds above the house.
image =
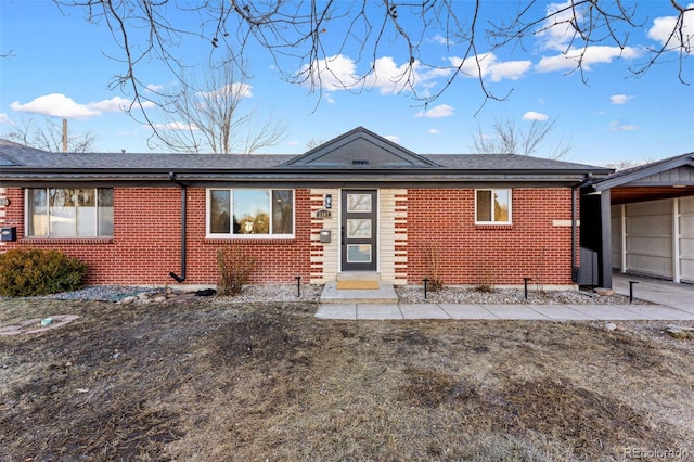
[[[491, 5], [486, 11], [493, 16], [517, 3], [485, 4]], [[494, 120], [505, 117], [520, 129], [532, 118], [555, 120], [549, 143], [571, 145], [567, 161], [605, 164], [669, 157], [694, 151], [694, 59], [684, 60], [683, 78], [690, 85], [678, 80], [674, 55], [639, 78], [631, 77], [629, 68], [646, 59], [645, 47], [659, 44], [656, 26], [672, 15], [670, 2], [640, 2], [643, 27], [630, 33], [629, 48], [621, 57], [614, 48], [592, 50], [594, 62], [583, 74], [588, 84], [579, 73], [567, 75], [566, 62], [556, 57], [565, 42], [551, 33], [534, 37], [525, 49], [487, 56], [485, 85], [497, 94], [511, 91], [503, 102], [485, 104], [479, 82], [462, 77], [423, 107], [393, 91], [384, 76], [397, 72], [404, 56], [397, 54], [398, 48], [383, 47], [375, 63], [378, 79], [369, 80], [369, 89], [358, 94], [332, 87], [330, 81], [324, 81], [322, 95], [311, 93], [305, 86], [283, 81], [267, 54], [253, 53], [247, 103], [257, 107], [260, 117], [272, 114], [287, 124], [284, 140], [261, 153], [299, 154], [311, 141], [327, 141], [357, 126], [417, 153], [470, 153], [477, 127], [491, 136]], [[97, 151], [146, 152], [150, 128], [121, 111], [131, 93], [110, 86], [114, 75], [124, 70], [121, 63], [108, 57], [119, 57], [119, 51], [106, 27], [85, 16], [78, 9], [61, 12], [49, 0], [0, 0], [0, 53], [11, 51], [9, 57], [0, 59], [0, 133], [23, 118], [42, 121], [52, 116], [60, 121], [68, 117], [70, 131], [97, 136]], [[694, 18], [689, 20], [691, 33]], [[434, 34], [423, 41], [428, 62], [455, 63], [462, 53], [455, 47], [447, 48]], [[208, 47], [190, 40], [177, 51], [200, 66]], [[344, 50], [335, 57], [334, 69], [350, 78], [350, 73], [369, 64], [355, 64], [355, 57], [356, 51]], [[143, 64], [140, 70], [147, 85], [171, 82], [156, 62]], [[445, 80], [444, 73], [426, 69], [417, 77], [423, 93], [436, 91]], [[156, 121], [156, 115], [153, 119]]]

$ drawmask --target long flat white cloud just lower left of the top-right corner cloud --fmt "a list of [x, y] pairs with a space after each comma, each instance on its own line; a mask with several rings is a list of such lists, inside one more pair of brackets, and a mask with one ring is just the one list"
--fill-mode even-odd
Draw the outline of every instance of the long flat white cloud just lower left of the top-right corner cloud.
[[566, 54], [544, 56], [537, 64], [537, 70], [549, 73], [553, 70], [575, 69], [580, 61], [583, 70], [590, 70], [591, 66], [599, 63], [611, 63], [619, 57], [627, 60], [639, 57], [641, 50], [633, 47], [591, 46], [586, 49], [571, 49]]

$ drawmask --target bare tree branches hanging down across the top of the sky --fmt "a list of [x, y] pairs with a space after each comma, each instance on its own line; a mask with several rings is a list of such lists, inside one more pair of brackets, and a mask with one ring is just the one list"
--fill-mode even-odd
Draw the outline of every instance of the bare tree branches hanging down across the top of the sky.
[[[146, 111], [152, 99], [144, 91], [140, 69], [155, 60], [167, 66], [171, 80], [180, 79], [188, 66], [200, 63], [176, 54], [180, 44], [188, 41], [202, 44], [201, 54], [209, 56], [213, 68], [227, 59], [227, 53], [240, 63], [259, 47], [269, 53], [283, 79], [307, 85], [319, 95], [329, 82], [359, 92], [376, 77], [388, 77], [395, 91], [406, 92], [426, 105], [445, 94], [458, 79], [471, 76], [477, 78], [485, 100], [506, 99], [511, 90], [496, 93], [488, 86], [485, 60], [497, 52], [525, 48], [524, 41], [529, 38], [557, 31], [563, 34], [557, 53], [574, 60], [571, 72], [579, 72], [587, 80], [594, 46], [626, 52], [630, 50], [630, 31], [644, 27], [646, 21], [638, 14], [639, 2], [622, 0], [570, 0], [552, 3], [553, 10], [547, 9], [550, 3], [531, 0], [520, 2], [515, 11], [492, 10], [493, 21], [488, 20], [487, 9], [493, 8], [489, 5], [494, 2], [480, 0], [53, 1], [61, 8], [80, 8], [90, 21], [105, 24], [121, 50], [121, 55], [113, 57], [124, 65], [113, 85], [131, 93], [130, 110], [139, 108], [153, 128]], [[678, 60], [678, 78], [685, 82], [684, 63], [692, 54], [692, 31], [686, 29], [685, 16], [694, 14], [694, 7], [684, 7], [677, 0], [670, 0], [668, 5], [676, 17], [670, 40], [652, 47], [645, 61], [631, 72], [643, 75], [659, 63]], [[446, 64], [441, 56], [427, 59], [424, 43], [439, 36], [457, 61]], [[218, 49], [226, 50], [223, 57], [216, 53]], [[406, 56], [398, 75], [376, 76], [376, 62], [384, 50], [390, 56]], [[335, 66], [335, 56], [347, 53], [359, 65], [349, 76]], [[423, 89], [417, 79], [425, 70], [439, 72], [446, 76], [444, 82]]]

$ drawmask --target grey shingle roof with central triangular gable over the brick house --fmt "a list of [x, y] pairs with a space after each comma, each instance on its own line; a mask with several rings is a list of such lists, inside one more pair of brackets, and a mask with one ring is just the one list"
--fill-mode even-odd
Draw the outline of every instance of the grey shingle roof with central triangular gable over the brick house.
[[[345, 142], [354, 140], [354, 143]], [[333, 143], [331, 145], [331, 143]], [[372, 146], [376, 146], [373, 149]], [[386, 162], [352, 165], [350, 156], [362, 146]], [[318, 151], [317, 151], [318, 150]], [[172, 172], [190, 181], [265, 180], [292, 181], [454, 181], [484, 179], [578, 181], [584, 176], [607, 175], [612, 170], [584, 164], [514, 154], [428, 154], [417, 155], [369, 130], [359, 127], [340, 136], [309, 155], [218, 155], [160, 153], [49, 153], [0, 140], [0, 180], [2, 181], [89, 181], [160, 180]], [[343, 151], [340, 151], [343, 150]], [[375, 151], [374, 151], [375, 150]], [[378, 151], [381, 150], [381, 151]], [[395, 150], [395, 151], [394, 151]], [[330, 153], [330, 163], [311, 163], [311, 153]], [[337, 153], [337, 154], [335, 154]], [[344, 153], [344, 165], [335, 167]], [[402, 154], [404, 153], [404, 154]], [[389, 162], [387, 156], [393, 156]], [[404, 158], [404, 161], [403, 161]], [[412, 162], [421, 158], [421, 162]], [[292, 162], [300, 159], [300, 162]]]

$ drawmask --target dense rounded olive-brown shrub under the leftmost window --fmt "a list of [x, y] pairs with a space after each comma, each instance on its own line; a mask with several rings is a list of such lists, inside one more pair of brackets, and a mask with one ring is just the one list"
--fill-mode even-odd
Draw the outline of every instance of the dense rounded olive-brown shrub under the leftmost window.
[[74, 291], [87, 265], [59, 251], [16, 248], [0, 254], [0, 295], [28, 297]]

